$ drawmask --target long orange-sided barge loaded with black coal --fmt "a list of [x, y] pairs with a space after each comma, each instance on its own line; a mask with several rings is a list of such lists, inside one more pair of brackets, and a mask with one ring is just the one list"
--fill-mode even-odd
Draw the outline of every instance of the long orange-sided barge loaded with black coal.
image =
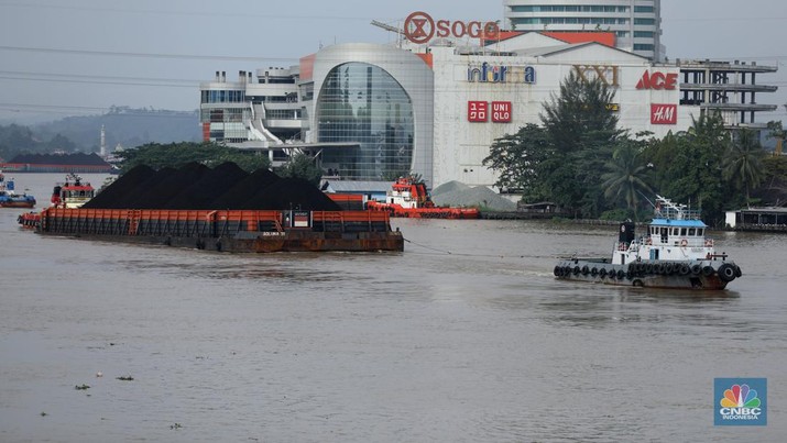
[[404, 250], [387, 213], [345, 211], [304, 180], [234, 164], [134, 168], [81, 208], [43, 210], [36, 232], [238, 253]]

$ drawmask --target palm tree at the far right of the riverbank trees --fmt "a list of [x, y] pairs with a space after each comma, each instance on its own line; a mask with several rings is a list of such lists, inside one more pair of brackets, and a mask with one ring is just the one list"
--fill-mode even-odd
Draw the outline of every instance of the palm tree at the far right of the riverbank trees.
[[723, 177], [731, 180], [739, 189], [746, 190], [746, 206], [751, 201], [750, 188], [759, 185], [764, 178], [763, 156], [765, 151], [759, 144], [757, 133], [742, 129], [735, 134], [722, 158]]

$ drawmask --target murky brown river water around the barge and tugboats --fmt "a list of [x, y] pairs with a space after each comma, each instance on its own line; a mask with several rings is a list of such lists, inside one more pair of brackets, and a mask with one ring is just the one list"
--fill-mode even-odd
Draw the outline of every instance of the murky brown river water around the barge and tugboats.
[[[62, 179], [17, 188], [42, 208]], [[553, 277], [615, 226], [394, 220], [404, 253], [243, 255], [42, 237], [22, 211], [0, 209], [0, 442], [787, 435], [785, 235], [714, 232], [744, 275], [697, 292]], [[714, 427], [715, 377], [767, 378], [767, 425]]]

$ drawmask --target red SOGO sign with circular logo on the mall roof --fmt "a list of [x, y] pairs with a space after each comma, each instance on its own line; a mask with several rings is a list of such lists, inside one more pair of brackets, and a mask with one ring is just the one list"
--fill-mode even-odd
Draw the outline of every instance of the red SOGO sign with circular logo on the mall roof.
[[451, 22], [448, 20], [435, 20], [426, 12], [413, 12], [404, 21], [404, 35], [415, 44], [427, 43], [431, 37], [463, 37], [466, 35], [478, 38], [487, 36], [494, 38], [500, 33], [500, 27], [495, 22]]

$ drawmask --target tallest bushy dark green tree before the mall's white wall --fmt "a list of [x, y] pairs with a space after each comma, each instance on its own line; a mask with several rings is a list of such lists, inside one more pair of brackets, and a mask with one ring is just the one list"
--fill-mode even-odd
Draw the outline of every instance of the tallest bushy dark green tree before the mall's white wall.
[[603, 166], [612, 156], [617, 115], [614, 99], [600, 79], [586, 81], [571, 73], [559, 95], [544, 103], [542, 126], [528, 124], [498, 139], [485, 165], [500, 174], [500, 187], [521, 189], [526, 201], [550, 200], [586, 217], [606, 207], [601, 188]]

